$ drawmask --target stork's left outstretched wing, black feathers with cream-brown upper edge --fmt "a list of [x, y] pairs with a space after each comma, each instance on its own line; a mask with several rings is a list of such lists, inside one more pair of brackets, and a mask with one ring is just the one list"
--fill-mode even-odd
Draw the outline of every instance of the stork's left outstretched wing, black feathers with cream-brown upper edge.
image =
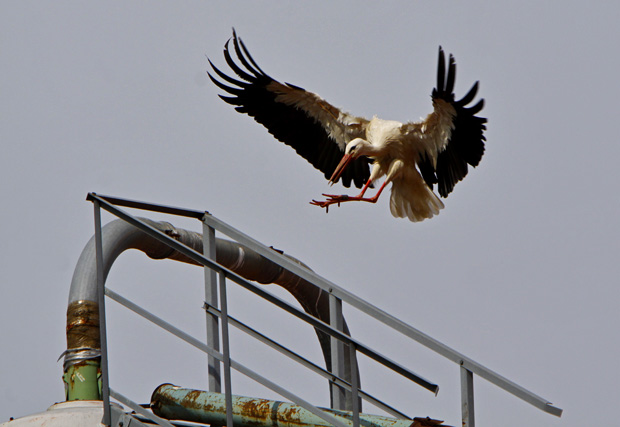
[[[235, 110], [248, 114], [267, 128], [278, 140], [293, 147], [329, 179], [344, 154], [347, 142], [364, 137], [368, 120], [347, 114], [318, 95], [292, 84], [282, 84], [269, 77], [254, 62], [245, 45], [233, 30], [233, 47], [238, 62], [224, 48], [224, 58], [239, 79], [220, 71], [209, 60], [218, 80], [209, 77], [231, 96], [220, 95]], [[351, 181], [362, 187], [370, 176], [369, 161], [359, 158], [342, 175], [345, 187]]]

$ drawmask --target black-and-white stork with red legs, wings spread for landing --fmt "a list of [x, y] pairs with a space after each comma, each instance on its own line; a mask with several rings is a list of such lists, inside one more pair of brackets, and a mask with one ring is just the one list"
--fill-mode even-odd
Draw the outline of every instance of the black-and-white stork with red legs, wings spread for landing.
[[[394, 217], [413, 222], [432, 218], [444, 208], [434, 192], [435, 185], [439, 196], [447, 197], [467, 175], [468, 166], [478, 166], [484, 154], [487, 119], [476, 115], [484, 99], [470, 106], [479, 82], [456, 100], [456, 62], [450, 54], [446, 64], [441, 46], [437, 84], [431, 93], [433, 111], [423, 120], [406, 123], [358, 117], [313, 92], [280, 83], [258, 66], [234, 29], [224, 45], [224, 59], [236, 77], [221, 71], [210, 59], [213, 74], [207, 72], [226, 92], [219, 95], [223, 101], [294, 148], [323, 172], [330, 185], [340, 180], [347, 188], [351, 184], [361, 188], [356, 196], [323, 193], [325, 200], [310, 202], [326, 211], [344, 202], [376, 203], [391, 183], [390, 212]], [[366, 197], [367, 190], [383, 177], [375, 195]]]

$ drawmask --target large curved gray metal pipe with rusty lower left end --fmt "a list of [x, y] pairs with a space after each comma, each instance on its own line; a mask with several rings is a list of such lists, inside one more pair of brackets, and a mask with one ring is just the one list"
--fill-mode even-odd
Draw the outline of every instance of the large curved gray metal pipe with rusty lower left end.
[[[141, 218], [141, 220], [197, 252], [203, 252], [202, 234], [176, 228], [168, 222], [156, 222], [145, 218]], [[102, 248], [104, 281], [116, 258], [128, 249], [140, 250], [153, 259], [172, 259], [198, 265], [178, 251], [121, 219], [114, 220], [102, 227]], [[288, 257], [303, 265], [301, 261]], [[282, 286], [295, 297], [307, 313], [329, 323], [329, 296], [326, 292], [244, 245], [217, 238], [216, 261], [248, 280]], [[67, 351], [64, 353], [65, 381], [69, 388], [73, 385], [73, 381], [69, 378], [73, 376], [68, 375], [69, 369], [74, 365], [85, 364], [100, 356], [98, 312], [96, 250], [95, 237], [93, 236], [78, 259], [69, 291]], [[346, 322], [344, 323], [344, 332], [349, 334]], [[327, 369], [331, 370], [330, 337], [318, 330], [316, 333]], [[344, 360], [345, 364], [348, 365], [348, 347], [345, 347]], [[351, 381], [350, 369], [345, 368], [344, 379]], [[350, 399], [346, 400], [348, 407], [351, 404]]]

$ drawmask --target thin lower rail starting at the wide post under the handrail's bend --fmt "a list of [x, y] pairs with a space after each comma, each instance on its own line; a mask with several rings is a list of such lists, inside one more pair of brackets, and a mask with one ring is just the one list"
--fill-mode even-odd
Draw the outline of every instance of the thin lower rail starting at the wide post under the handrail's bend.
[[[208, 304], [205, 303], [205, 310], [210, 313], [213, 314], [217, 317], [221, 316], [220, 310], [218, 310], [215, 307], [212, 307]], [[272, 340], [271, 338], [265, 336], [264, 334], [261, 334], [260, 332], [258, 332], [256, 329], [253, 329], [252, 327], [246, 325], [245, 323], [235, 319], [234, 317], [228, 315], [228, 323], [233, 325], [235, 328], [239, 329], [240, 331], [245, 332], [246, 334], [250, 335], [251, 337], [257, 339], [258, 341], [261, 341], [262, 343], [268, 345], [269, 347], [273, 348], [274, 350], [286, 355], [287, 357], [289, 357], [290, 359], [296, 361], [297, 363], [299, 363], [302, 366], [305, 366], [306, 368], [308, 368], [309, 370], [313, 371], [314, 373], [334, 382], [335, 384], [339, 385], [340, 387], [345, 388], [348, 391], [351, 391], [351, 384], [349, 384], [349, 382], [343, 380], [340, 377], [335, 376], [334, 374], [332, 374], [331, 372], [329, 372], [327, 369], [323, 369], [321, 368], [319, 365], [311, 362], [310, 360], [300, 356], [299, 354], [295, 353], [294, 351], [284, 347], [283, 345], [275, 342], [274, 340]], [[390, 405], [388, 405], [385, 402], [382, 402], [381, 400], [377, 399], [376, 397], [366, 393], [363, 390], [358, 390], [360, 396], [366, 400], [367, 402], [372, 403], [373, 405], [375, 405], [376, 407], [383, 409], [385, 412], [397, 417], [397, 418], [403, 418], [403, 419], [411, 419], [410, 416], [400, 412], [399, 410], [391, 407]]]

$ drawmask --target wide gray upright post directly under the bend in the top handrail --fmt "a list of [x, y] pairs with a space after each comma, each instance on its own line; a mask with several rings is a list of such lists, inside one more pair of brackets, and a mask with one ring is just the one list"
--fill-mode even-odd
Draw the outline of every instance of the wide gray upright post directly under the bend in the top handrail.
[[[205, 213], [205, 216], [208, 213]], [[216, 260], [215, 254], [215, 229], [202, 222], [202, 248], [206, 258]], [[212, 307], [218, 307], [217, 297], [217, 274], [209, 267], [204, 267], [205, 274], [205, 302]], [[220, 332], [217, 316], [206, 312], [207, 315], [207, 345], [215, 351], [220, 350]], [[222, 380], [220, 362], [213, 356], [208, 356], [209, 391], [220, 393]]]

